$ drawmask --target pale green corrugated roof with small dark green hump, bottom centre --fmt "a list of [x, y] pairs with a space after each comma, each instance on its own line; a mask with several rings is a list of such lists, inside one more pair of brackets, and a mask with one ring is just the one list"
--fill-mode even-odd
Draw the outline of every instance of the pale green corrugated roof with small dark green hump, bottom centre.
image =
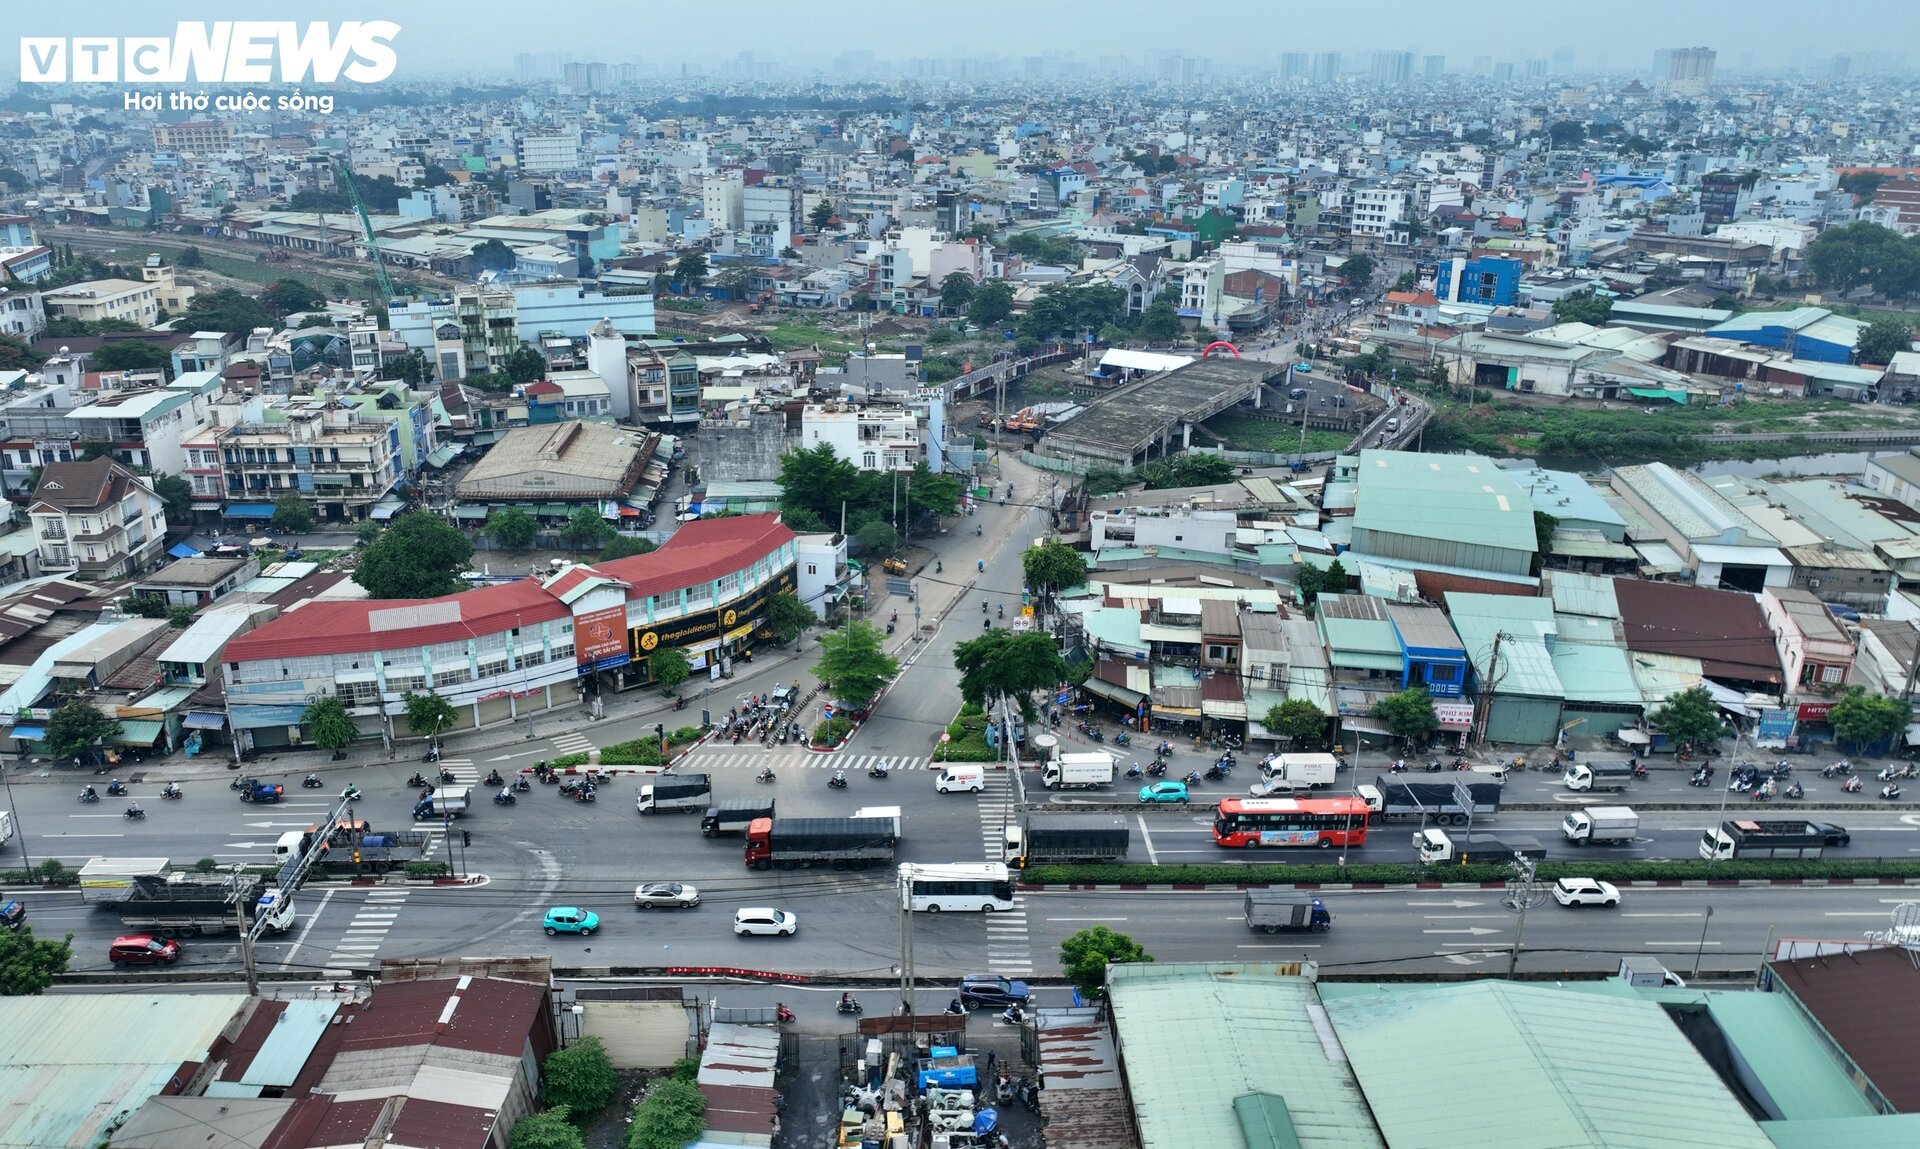
[[1306, 1149], [1384, 1149], [1354, 1072], [1315, 1024], [1319, 997], [1306, 978], [1265, 965], [1121, 965], [1108, 970], [1108, 997], [1140, 1149], [1248, 1145], [1235, 1112], [1248, 1093], [1279, 1095]]

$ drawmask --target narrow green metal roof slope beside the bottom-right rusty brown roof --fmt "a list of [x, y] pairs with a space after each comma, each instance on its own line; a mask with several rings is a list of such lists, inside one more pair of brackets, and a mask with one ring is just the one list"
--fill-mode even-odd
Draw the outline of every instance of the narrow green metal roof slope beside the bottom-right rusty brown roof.
[[1786, 993], [1707, 993], [1707, 1013], [1788, 1122], [1874, 1112]]

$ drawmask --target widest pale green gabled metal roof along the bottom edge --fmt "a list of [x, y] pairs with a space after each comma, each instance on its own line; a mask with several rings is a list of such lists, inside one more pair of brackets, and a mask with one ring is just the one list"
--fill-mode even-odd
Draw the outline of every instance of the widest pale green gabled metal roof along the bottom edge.
[[[1772, 1149], [1651, 1001], [1475, 982], [1344, 997], [1327, 1016], [1394, 1145]], [[1436, 1041], [1473, 1072], [1413, 1059]]]

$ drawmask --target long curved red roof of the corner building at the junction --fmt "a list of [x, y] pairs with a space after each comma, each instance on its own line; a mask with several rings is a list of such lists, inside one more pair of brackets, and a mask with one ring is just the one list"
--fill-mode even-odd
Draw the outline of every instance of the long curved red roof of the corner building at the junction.
[[[701, 519], [676, 530], [660, 550], [601, 563], [593, 573], [626, 582], [628, 599], [647, 598], [732, 574], [791, 538], [793, 530], [778, 515]], [[582, 574], [586, 576], [589, 574]], [[225, 661], [459, 642], [566, 615], [566, 603], [536, 578], [430, 599], [309, 601], [227, 644]]]

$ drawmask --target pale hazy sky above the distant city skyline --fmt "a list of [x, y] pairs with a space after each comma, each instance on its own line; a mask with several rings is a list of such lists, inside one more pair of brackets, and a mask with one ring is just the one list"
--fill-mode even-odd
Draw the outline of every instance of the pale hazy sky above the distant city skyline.
[[[1607, 0], [1605, 4], [1484, 4], [1434, 0], [81, 0], [6, 4], [19, 35], [165, 35], [179, 19], [392, 19], [399, 75], [511, 79], [515, 52], [574, 60], [820, 63], [866, 48], [883, 58], [1183, 54], [1223, 65], [1279, 52], [1411, 50], [1444, 54], [1452, 71], [1475, 56], [1496, 61], [1574, 50], [1574, 67], [1605, 60], [1645, 69], [1655, 48], [1705, 44], [1720, 69], [1753, 54], [1757, 67], [1795, 52], [1828, 56], [1920, 44], [1920, 0]], [[1357, 13], [1365, 12], [1365, 17]], [[12, 38], [8, 37], [8, 38]], [[1190, 37], [1190, 38], [1183, 38]], [[17, 44], [0, 75], [19, 75]]]

